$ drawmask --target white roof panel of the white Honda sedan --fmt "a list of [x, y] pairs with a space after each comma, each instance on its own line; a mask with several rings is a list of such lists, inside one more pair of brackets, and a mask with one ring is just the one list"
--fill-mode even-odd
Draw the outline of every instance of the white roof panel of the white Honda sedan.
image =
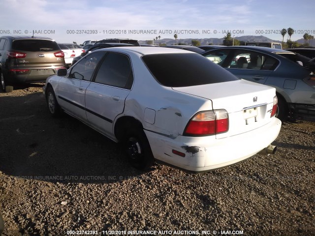
[[[120, 51], [120, 52], [135, 52], [142, 55], [152, 54], [169, 54], [169, 53], [194, 53], [187, 50], [164, 48], [164, 47], [119, 47], [119, 48], [103, 48], [101, 51]], [[99, 51], [97, 50], [97, 51]]]

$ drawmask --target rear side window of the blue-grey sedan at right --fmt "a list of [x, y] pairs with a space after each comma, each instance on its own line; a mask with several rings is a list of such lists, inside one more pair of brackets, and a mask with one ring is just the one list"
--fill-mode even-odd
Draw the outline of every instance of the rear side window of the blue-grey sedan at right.
[[279, 61], [263, 53], [248, 50], [234, 50], [228, 68], [251, 70], [274, 70]]

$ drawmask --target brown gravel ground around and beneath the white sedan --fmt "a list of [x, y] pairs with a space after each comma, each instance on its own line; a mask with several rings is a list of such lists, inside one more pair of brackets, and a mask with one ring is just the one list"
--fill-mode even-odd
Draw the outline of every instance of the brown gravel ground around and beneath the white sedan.
[[51, 118], [42, 86], [0, 93], [2, 235], [315, 235], [314, 122], [284, 123], [275, 155], [139, 172], [80, 121]]

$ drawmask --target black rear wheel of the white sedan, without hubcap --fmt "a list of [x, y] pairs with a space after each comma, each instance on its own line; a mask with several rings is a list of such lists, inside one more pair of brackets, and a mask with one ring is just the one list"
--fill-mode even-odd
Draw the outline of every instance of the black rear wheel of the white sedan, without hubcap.
[[125, 149], [129, 163], [138, 170], [148, 170], [154, 163], [149, 141], [143, 130], [131, 129], [125, 136]]

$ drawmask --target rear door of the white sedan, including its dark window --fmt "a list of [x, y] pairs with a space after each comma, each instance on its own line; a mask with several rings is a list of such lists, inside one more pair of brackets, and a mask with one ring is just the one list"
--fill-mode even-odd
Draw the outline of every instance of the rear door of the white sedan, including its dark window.
[[99, 132], [114, 138], [113, 122], [124, 112], [125, 99], [133, 84], [128, 56], [108, 52], [85, 95], [89, 123]]

